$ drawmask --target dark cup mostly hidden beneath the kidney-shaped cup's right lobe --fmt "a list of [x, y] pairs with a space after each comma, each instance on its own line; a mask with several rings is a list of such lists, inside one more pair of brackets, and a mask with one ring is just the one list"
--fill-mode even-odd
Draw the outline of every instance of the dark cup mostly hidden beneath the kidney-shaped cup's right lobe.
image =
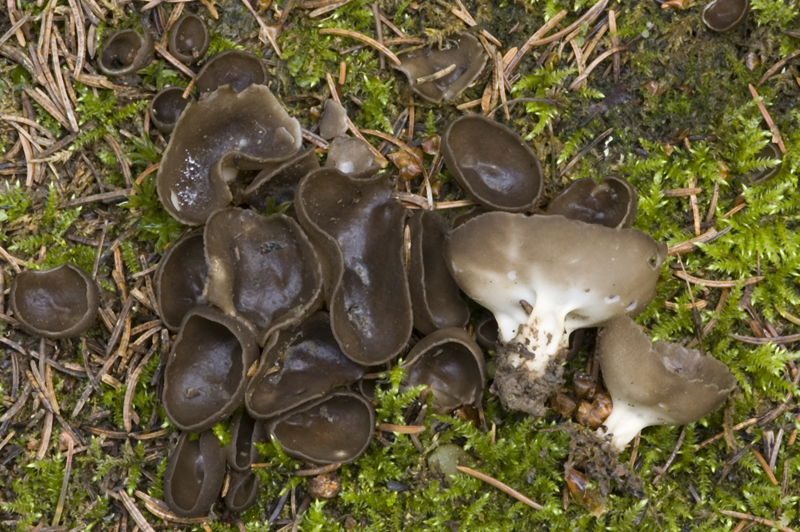
[[276, 167], [268, 167], [253, 178], [245, 189], [244, 197], [251, 207], [264, 212], [269, 198], [280, 205], [294, 201], [294, 191], [300, 180], [319, 168], [319, 159], [314, 146], [300, 150]]

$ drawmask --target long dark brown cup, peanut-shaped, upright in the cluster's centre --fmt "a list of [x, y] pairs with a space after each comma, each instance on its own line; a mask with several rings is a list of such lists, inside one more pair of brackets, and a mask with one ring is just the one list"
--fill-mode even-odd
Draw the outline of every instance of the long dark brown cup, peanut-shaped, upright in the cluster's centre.
[[388, 178], [356, 179], [321, 168], [297, 187], [300, 224], [326, 279], [333, 334], [351, 360], [395, 357], [411, 337], [411, 296], [403, 257], [405, 207]]

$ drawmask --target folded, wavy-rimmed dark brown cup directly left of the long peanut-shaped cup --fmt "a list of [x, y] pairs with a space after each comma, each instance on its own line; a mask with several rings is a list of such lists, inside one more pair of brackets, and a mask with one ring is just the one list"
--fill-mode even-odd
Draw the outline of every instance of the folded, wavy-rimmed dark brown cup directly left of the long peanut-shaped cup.
[[205, 297], [251, 323], [263, 345], [322, 304], [322, 269], [300, 226], [283, 214], [222, 209], [205, 229]]

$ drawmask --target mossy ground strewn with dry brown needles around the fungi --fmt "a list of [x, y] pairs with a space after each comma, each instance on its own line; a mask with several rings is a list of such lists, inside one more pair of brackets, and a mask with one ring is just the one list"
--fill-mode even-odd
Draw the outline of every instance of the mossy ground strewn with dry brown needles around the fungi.
[[[0, 21], [2, 287], [23, 269], [73, 262], [97, 276], [103, 304], [84, 338], [49, 341], [20, 332], [0, 300], [3, 526], [797, 529], [797, 8], [753, 1], [743, 26], [714, 33], [704, 7], [9, 0]], [[209, 23], [210, 53], [261, 54], [270, 89], [320, 151], [321, 103], [343, 102], [353, 134], [372, 141], [390, 170], [411, 175], [395, 192], [410, 209], [450, 217], [472, 204], [438, 151], [420, 150], [464, 112], [526, 136], [543, 162], [547, 198], [581, 177], [626, 177], [639, 192], [636, 227], [667, 242], [673, 257], [638, 321], [654, 340], [702, 347], [726, 363], [738, 384], [727, 407], [682, 429], [646, 429], [623, 455], [644, 479], [645, 498], [612, 492], [599, 501], [591, 485], [565, 478], [569, 436], [557, 414], [533, 421], [487, 394], [484, 424], [419, 416], [418, 391], [396, 393], [395, 369], [392, 389], [378, 396], [378, 437], [337, 470], [337, 498], [312, 501], [304, 475], [330, 471], [300, 471], [267, 444], [253, 509], [192, 523], [170, 516], [161, 476], [174, 431], [157, 390], [170, 335], [154, 319], [152, 275], [182, 227], [155, 193], [166, 143], [146, 107], [156, 90], [194, 77], [161, 39], [184, 11]], [[130, 79], [99, 74], [104, 39], [143, 25], [156, 36], [156, 61]], [[473, 27], [489, 62], [452, 104], [415, 97], [381, 52]], [[751, 184], [751, 173], [776, 162], [759, 155], [769, 141], [783, 154], [781, 170]], [[567, 373], [584, 370], [596, 375], [590, 351]], [[228, 437], [224, 425], [215, 432]], [[464, 465], [543, 508], [472, 477], [443, 478], [426, 457], [447, 443], [466, 451]]]

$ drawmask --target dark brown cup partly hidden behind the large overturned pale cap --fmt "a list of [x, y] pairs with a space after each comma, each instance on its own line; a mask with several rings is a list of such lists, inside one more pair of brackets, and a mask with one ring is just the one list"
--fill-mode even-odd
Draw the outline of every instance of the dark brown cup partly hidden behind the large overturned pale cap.
[[606, 176], [600, 183], [584, 177], [553, 198], [547, 214], [615, 229], [630, 227], [636, 218], [637, 197], [636, 190], [621, 177]]

